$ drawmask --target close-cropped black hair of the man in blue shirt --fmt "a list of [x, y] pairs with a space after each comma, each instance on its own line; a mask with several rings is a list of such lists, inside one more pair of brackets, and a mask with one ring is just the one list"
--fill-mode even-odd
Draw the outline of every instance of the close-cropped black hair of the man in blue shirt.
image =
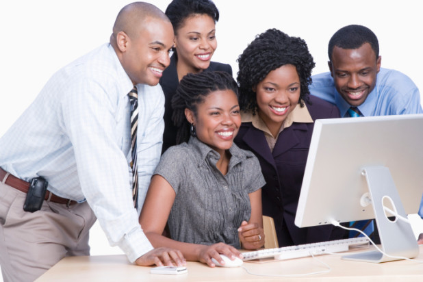
[[329, 61], [332, 62], [332, 53], [335, 46], [342, 49], [358, 49], [364, 43], [370, 44], [377, 59], [379, 57], [379, 41], [373, 31], [363, 25], [347, 25], [342, 27], [329, 40]]

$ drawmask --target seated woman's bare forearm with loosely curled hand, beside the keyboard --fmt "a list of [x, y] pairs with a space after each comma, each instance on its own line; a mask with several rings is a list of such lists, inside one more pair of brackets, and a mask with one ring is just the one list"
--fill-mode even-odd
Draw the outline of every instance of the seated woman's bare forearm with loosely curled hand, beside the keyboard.
[[263, 214], [261, 211], [261, 189], [248, 194], [251, 203], [251, 217], [243, 221], [238, 229], [242, 247], [255, 250], [264, 245]]

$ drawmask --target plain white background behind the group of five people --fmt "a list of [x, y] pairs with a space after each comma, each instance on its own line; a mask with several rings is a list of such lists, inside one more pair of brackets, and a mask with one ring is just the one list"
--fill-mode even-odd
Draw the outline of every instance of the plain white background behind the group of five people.
[[[120, 8], [132, 1], [0, 1], [0, 136], [33, 101], [59, 68], [109, 40]], [[151, 0], [165, 10], [170, 0]], [[328, 71], [327, 44], [349, 24], [370, 27], [378, 36], [382, 66], [409, 75], [423, 90], [423, 17], [413, 0], [216, 0], [218, 49], [214, 61], [231, 64], [253, 38], [268, 28], [307, 42], [316, 68]], [[415, 233], [423, 231], [413, 215]], [[92, 255], [121, 253], [110, 248], [96, 224]]]

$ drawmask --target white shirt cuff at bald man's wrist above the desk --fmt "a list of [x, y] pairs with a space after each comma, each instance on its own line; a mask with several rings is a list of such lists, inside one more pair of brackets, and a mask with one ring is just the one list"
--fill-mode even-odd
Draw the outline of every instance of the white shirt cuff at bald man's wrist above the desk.
[[153, 250], [153, 246], [146, 238], [141, 228], [134, 229], [131, 233], [125, 235], [118, 246], [127, 255], [129, 261], [134, 262], [138, 257]]

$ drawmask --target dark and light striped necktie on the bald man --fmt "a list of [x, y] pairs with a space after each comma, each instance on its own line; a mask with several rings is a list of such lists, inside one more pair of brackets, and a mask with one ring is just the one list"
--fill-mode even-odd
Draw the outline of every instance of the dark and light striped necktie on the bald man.
[[138, 207], [138, 168], [137, 168], [137, 127], [138, 127], [138, 90], [133, 86], [129, 95], [131, 103], [131, 168], [132, 168], [132, 199], [135, 208]]

